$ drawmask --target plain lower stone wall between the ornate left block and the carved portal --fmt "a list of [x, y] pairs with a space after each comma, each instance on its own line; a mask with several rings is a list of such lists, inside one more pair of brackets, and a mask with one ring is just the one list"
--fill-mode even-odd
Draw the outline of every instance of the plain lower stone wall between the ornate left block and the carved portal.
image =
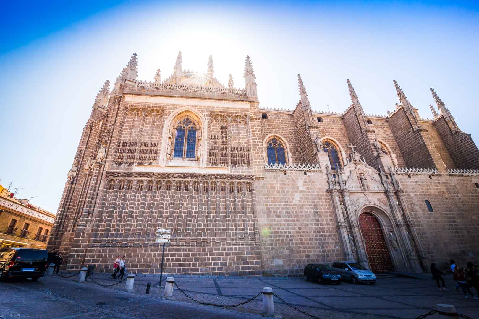
[[302, 276], [342, 258], [324, 173], [268, 171], [255, 185], [263, 274]]

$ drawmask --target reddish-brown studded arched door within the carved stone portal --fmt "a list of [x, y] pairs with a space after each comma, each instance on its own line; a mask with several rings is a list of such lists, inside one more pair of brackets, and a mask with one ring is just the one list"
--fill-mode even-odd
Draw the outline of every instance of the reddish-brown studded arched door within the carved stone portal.
[[366, 254], [373, 272], [394, 270], [381, 225], [371, 213], [359, 215], [359, 227], [366, 245]]

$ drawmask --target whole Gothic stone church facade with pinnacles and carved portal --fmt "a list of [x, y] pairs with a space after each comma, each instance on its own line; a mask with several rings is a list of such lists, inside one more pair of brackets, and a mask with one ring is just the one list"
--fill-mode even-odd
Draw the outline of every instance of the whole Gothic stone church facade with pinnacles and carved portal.
[[355, 260], [373, 271], [478, 261], [479, 150], [431, 88], [439, 113], [399, 104], [369, 116], [347, 81], [344, 113], [313, 112], [298, 75], [294, 110], [259, 107], [244, 88], [182, 68], [137, 79], [133, 55], [96, 96], [48, 241], [67, 269], [301, 276]]

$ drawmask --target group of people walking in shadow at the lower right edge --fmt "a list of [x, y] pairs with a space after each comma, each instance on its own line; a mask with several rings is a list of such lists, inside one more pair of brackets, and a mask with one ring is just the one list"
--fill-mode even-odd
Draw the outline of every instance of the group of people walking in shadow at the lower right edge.
[[[454, 280], [457, 283], [454, 289], [459, 292], [459, 288], [461, 288], [466, 298], [471, 296], [473, 299], [479, 299], [478, 296], [474, 296], [470, 289], [474, 287], [476, 289], [476, 294], [479, 295], [479, 266], [474, 266], [474, 264], [469, 262], [466, 268], [461, 268], [456, 266], [454, 260], [451, 259], [449, 262], [451, 264], [451, 271], [453, 272]], [[436, 280], [439, 290], [447, 290], [443, 278], [443, 275], [445, 274], [437, 269], [436, 264], [434, 263], [431, 264], [431, 273], [433, 274], [433, 279]]]

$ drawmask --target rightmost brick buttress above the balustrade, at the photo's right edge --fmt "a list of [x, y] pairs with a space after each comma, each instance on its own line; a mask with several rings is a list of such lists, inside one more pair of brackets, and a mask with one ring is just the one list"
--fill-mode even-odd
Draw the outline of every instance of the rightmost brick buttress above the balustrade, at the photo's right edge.
[[[444, 143], [443, 153], [450, 154], [457, 168], [479, 168], [479, 150], [471, 138], [471, 135], [465, 132], [451, 132], [449, 125], [444, 117], [440, 117], [434, 122], [438, 135]], [[449, 168], [449, 166], [448, 166]]]

